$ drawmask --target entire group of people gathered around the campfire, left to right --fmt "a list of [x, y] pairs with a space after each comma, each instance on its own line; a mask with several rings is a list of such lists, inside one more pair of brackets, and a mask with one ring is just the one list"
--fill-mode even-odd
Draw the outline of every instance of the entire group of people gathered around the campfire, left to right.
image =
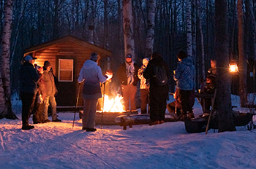
[[[124, 98], [124, 108], [126, 111], [136, 110], [135, 95], [137, 84], [140, 82], [141, 114], [150, 114], [149, 125], [158, 125], [165, 122], [165, 109], [173, 112], [173, 108], [178, 108], [176, 113], [183, 120], [194, 117], [192, 107], [194, 106], [195, 93], [195, 66], [192, 58], [187, 57], [184, 51], [178, 52], [178, 66], [174, 71], [173, 79], [176, 81], [176, 101], [167, 105], [169, 95], [169, 70], [167, 63], [159, 52], [154, 52], [150, 60], [143, 59], [143, 65], [139, 67], [132, 60], [132, 55], [125, 56], [125, 62], [118, 67], [117, 79], [121, 84], [121, 92]], [[55, 94], [56, 84], [51, 71], [50, 63], [46, 60], [44, 66], [33, 65], [34, 60], [27, 55], [20, 68], [20, 98], [22, 101], [22, 129], [30, 130], [34, 128], [29, 125], [29, 117], [34, 114], [33, 122], [50, 122], [48, 119], [48, 106], [52, 111], [52, 122], [61, 122], [56, 114]], [[89, 132], [96, 131], [94, 127], [97, 101], [102, 98], [100, 83], [109, 81], [113, 73], [107, 71], [102, 74], [102, 69], [97, 65], [99, 55], [92, 52], [90, 59], [86, 60], [80, 69], [78, 82], [83, 84], [83, 127], [82, 130]], [[212, 93], [216, 87], [216, 63], [211, 60], [211, 69], [206, 77], [204, 93]], [[159, 73], [160, 72], [160, 73]], [[161, 79], [159, 76], [166, 76]], [[164, 78], [164, 77], [162, 77]], [[148, 110], [147, 110], [148, 106]], [[211, 105], [207, 105], [208, 108]]]

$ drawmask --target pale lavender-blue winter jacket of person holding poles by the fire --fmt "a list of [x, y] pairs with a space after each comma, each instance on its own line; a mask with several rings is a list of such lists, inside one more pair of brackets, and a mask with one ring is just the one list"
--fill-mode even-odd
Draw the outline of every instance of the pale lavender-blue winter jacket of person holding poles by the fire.
[[98, 99], [102, 97], [99, 82], [106, 82], [102, 69], [93, 60], [86, 60], [80, 70], [78, 82], [83, 84], [83, 98]]

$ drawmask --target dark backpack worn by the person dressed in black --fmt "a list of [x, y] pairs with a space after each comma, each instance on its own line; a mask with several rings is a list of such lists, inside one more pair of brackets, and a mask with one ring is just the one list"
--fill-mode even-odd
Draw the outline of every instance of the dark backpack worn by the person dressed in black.
[[168, 78], [164, 66], [154, 65], [154, 74], [154, 82], [157, 85], [163, 86], [167, 84]]

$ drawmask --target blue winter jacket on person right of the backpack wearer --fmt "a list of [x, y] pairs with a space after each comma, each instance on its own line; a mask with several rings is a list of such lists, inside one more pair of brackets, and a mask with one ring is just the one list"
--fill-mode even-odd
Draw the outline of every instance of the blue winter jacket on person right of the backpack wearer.
[[192, 58], [181, 59], [173, 79], [177, 81], [176, 87], [179, 90], [193, 90], [195, 88], [195, 66]]

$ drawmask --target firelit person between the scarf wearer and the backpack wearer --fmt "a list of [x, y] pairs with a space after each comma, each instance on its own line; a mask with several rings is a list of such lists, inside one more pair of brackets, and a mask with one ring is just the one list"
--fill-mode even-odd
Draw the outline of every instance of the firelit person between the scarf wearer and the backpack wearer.
[[[140, 79], [140, 101], [141, 114], [147, 113], [147, 104], [149, 103], [149, 79], [145, 79], [143, 72], [148, 66], [148, 58], [143, 59], [143, 65], [138, 70], [138, 78]], [[149, 112], [149, 105], [148, 105]]]

